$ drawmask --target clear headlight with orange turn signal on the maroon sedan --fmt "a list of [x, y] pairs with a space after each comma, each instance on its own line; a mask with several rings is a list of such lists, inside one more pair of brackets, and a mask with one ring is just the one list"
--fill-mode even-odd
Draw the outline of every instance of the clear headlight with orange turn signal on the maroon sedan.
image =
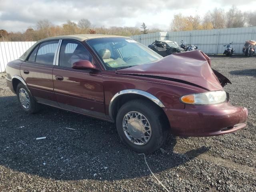
[[182, 103], [195, 104], [195, 105], [218, 104], [226, 101], [226, 99], [227, 99], [227, 94], [223, 90], [184, 95], [180, 97], [180, 101]]

